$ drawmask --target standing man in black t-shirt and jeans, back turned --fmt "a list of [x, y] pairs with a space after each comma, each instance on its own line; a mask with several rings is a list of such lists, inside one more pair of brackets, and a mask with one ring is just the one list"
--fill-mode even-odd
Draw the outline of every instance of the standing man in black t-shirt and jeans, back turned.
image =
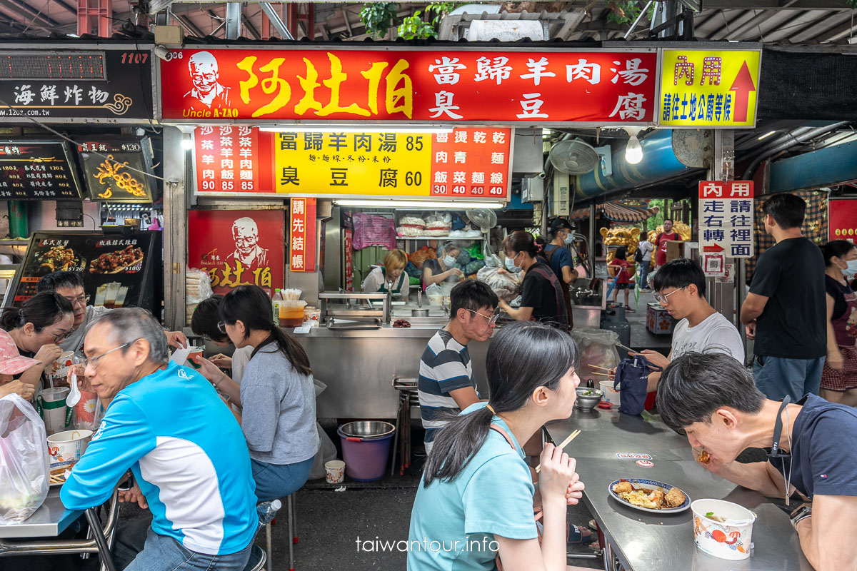
[[758, 258], [741, 306], [747, 337], [755, 338], [753, 378], [768, 398], [797, 401], [818, 395], [827, 353], [824, 258], [800, 231], [806, 202], [794, 194], [765, 200], [764, 230], [776, 244]]

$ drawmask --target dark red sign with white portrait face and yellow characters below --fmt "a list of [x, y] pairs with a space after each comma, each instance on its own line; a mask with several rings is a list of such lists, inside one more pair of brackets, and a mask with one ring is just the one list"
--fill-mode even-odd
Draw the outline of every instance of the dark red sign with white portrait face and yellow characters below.
[[215, 294], [255, 284], [282, 288], [283, 211], [189, 211], [188, 266], [208, 272]]

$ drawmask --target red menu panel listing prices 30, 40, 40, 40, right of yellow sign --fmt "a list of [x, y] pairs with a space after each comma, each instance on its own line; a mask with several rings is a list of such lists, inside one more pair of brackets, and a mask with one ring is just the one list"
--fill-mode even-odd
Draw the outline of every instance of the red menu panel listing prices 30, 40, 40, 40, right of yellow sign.
[[506, 199], [511, 164], [512, 129], [434, 134], [430, 195]]

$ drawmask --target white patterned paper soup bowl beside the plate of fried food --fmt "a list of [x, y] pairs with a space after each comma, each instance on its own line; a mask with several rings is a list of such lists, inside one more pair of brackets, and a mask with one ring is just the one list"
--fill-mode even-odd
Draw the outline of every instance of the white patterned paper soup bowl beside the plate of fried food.
[[[691, 503], [691, 510], [693, 538], [700, 550], [734, 561], [750, 556], [752, 524], [756, 514], [737, 503], [723, 500], [695, 500]], [[705, 514], [718, 515], [727, 521], [715, 521]]]

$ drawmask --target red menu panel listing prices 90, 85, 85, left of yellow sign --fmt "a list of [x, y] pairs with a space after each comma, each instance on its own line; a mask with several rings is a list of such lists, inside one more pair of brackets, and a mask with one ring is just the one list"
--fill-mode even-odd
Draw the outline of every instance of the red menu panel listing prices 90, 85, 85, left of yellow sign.
[[272, 192], [270, 135], [243, 126], [197, 127], [194, 136], [197, 192]]

